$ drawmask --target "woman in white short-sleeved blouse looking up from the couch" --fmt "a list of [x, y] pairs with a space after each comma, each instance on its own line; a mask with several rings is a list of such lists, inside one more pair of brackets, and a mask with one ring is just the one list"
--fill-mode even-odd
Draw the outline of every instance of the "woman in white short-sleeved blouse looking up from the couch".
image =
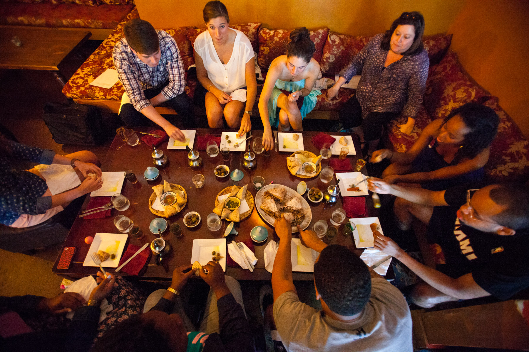
[[207, 31], [197, 36], [194, 55], [198, 81], [207, 90], [207, 122], [210, 128], [222, 128], [224, 117], [243, 135], [252, 129], [257, 95], [253, 47], [241, 31], [229, 28], [227, 9], [220, 1], [208, 2], [203, 13]]

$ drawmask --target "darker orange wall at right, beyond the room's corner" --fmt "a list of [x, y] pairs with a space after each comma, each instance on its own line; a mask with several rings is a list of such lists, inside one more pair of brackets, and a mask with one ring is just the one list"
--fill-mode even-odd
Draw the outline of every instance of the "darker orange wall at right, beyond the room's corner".
[[463, 68], [529, 136], [529, 2], [468, 0], [448, 32]]

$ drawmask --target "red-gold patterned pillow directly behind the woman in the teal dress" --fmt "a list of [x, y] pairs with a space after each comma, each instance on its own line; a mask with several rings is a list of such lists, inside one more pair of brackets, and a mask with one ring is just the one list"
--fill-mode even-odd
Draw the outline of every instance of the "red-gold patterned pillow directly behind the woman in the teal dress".
[[[291, 30], [268, 30], [261, 28], [259, 31], [259, 53], [257, 55], [257, 62], [262, 70], [268, 70], [268, 66], [272, 60], [279, 55], [285, 54], [287, 45], [290, 41]], [[322, 59], [323, 45], [329, 34], [329, 28], [321, 30], [309, 31], [311, 40], [316, 46], [313, 58], [317, 62]]]

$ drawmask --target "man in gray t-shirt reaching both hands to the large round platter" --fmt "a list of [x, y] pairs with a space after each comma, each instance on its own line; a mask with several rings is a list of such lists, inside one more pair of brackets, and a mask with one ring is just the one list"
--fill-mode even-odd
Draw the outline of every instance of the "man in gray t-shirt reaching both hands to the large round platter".
[[[299, 227], [298, 227], [299, 228]], [[412, 318], [400, 291], [340, 245], [313, 231], [302, 242], [320, 256], [314, 264], [318, 311], [299, 301], [292, 280], [290, 224], [275, 223], [279, 249], [272, 270], [273, 319], [288, 351], [412, 351]]]

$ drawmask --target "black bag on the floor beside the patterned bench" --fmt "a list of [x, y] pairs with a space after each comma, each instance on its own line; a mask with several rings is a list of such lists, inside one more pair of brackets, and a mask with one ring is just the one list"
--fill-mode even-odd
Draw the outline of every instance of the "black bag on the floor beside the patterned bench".
[[58, 144], [94, 146], [104, 141], [101, 110], [94, 106], [45, 103], [44, 122]]

